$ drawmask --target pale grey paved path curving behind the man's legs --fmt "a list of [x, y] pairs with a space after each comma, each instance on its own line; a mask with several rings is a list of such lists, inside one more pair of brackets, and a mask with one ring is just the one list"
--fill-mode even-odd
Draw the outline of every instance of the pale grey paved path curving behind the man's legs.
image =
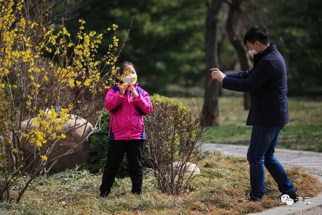
[[[204, 144], [203, 149], [209, 151], [218, 150], [226, 155], [245, 158], [247, 155], [248, 146], [229, 144]], [[322, 153], [276, 149], [275, 156], [283, 165], [292, 167], [296, 166], [298, 168], [301, 168], [306, 172], [316, 175], [316, 177], [318, 177], [318, 179], [322, 182]], [[311, 204], [294, 204], [291, 206], [282, 205], [259, 213], [251, 214], [322, 215], [322, 194], [311, 198], [311, 200]]]

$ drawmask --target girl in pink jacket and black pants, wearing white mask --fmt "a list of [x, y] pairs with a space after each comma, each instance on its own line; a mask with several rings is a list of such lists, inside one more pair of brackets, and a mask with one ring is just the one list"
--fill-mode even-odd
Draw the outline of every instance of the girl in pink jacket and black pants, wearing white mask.
[[[149, 94], [138, 87], [135, 67], [123, 62], [119, 87], [112, 86], [106, 94], [105, 107], [111, 112], [109, 150], [104, 168], [100, 197], [106, 198], [111, 192], [117, 171], [126, 154], [132, 181], [132, 193], [142, 193], [142, 151], [146, 139], [143, 115], [152, 111]], [[129, 74], [129, 75], [127, 75]]]

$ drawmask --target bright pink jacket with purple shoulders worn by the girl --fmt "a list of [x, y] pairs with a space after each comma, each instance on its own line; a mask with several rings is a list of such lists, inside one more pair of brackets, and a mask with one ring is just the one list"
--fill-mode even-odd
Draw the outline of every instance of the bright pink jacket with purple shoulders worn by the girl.
[[138, 93], [134, 98], [131, 91], [120, 95], [120, 89], [112, 86], [106, 93], [105, 107], [111, 112], [109, 140], [146, 139], [143, 115], [152, 110], [149, 94], [142, 88], [133, 85]]

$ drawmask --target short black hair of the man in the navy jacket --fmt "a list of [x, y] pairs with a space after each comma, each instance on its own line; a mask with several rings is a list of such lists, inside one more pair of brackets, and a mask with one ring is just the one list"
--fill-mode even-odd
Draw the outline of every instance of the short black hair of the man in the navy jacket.
[[246, 45], [248, 41], [251, 43], [255, 43], [255, 41], [260, 41], [261, 43], [268, 45], [269, 38], [266, 26], [254, 26], [250, 30], [248, 30], [244, 37], [244, 44]]

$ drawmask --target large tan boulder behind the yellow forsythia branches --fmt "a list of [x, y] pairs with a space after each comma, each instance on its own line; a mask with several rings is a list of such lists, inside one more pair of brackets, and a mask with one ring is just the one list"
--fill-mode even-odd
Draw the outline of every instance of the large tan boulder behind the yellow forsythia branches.
[[[21, 130], [25, 130], [27, 127], [28, 120], [25, 120], [21, 123]], [[58, 130], [56, 133], [57, 135], [60, 135], [61, 133], [65, 132], [66, 130], [69, 130], [71, 127], [75, 126], [76, 129], [71, 130], [70, 132], [66, 133], [66, 138], [59, 139], [55, 145], [55, 147], [52, 150], [51, 155], [48, 157], [48, 160], [56, 158], [59, 155], [64, 154], [71, 148], [78, 145], [78, 143], [81, 141], [81, 139], [84, 140], [86, 136], [92, 131], [93, 126], [90, 122], [87, 123], [87, 126], [85, 127], [86, 119], [78, 116], [72, 116], [69, 121], [67, 121], [63, 127]], [[82, 126], [81, 126], [82, 125]], [[79, 127], [81, 126], [81, 127]], [[28, 130], [34, 129], [35, 124], [33, 124], [31, 121], [29, 121]], [[84, 132], [85, 131], [85, 132]], [[84, 132], [84, 135], [83, 135]], [[83, 136], [83, 137], [82, 137]], [[26, 139], [24, 137], [21, 137], [21, 147], [25, 154], [30, 154], [34, 151], [35, 146], [31, 145], [29, 142], [26, 144]], [[43, 146], [46, 147], [49, 144], [45, 144]], [[59, 147], [61, 145], [61, 147]], [[26, 157], [26, 156], [25, 156]], [[83, 144], [79, 145], [77, 150], [74, 152], [74, 154], [66, 156], [61, 158], [56, 162], [56, 164], [52, 167], [51, 171], [61, 171], [65, 169], [72, 169], [76, 165], [81, 165], [86, 163], [89, 160], [90, 157], [90, 146], [89, 141], [86, 139]], [[28, 162], [28, 160], [27, 160]]]

